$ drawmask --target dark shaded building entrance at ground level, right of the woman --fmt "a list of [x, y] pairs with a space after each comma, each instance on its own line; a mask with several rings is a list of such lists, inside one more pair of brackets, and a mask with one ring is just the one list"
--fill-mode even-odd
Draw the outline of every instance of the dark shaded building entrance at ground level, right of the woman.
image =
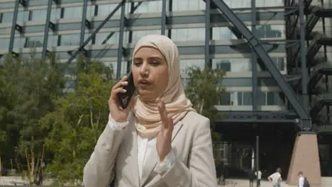
[[[256, 166], [256, 136], [259, 137], [259, 165], [262, 178], [267, 178], [277, 167], [287, 178], [292, 159], [297, 127], [293, 124], [220, 124], [216, 130], [223, 134], [223, 159], [217, 166], [218, 174], [231, 178], [249, 177]], [[221, 144], [221, 143], [220, 143]]]

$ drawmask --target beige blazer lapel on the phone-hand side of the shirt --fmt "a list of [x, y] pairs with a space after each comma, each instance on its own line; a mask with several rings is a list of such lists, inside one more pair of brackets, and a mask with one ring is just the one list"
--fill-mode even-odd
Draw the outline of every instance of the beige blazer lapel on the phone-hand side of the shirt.
[[[129, 125], [135, 123], [135, 121], [132, 121], [129, 123]], [[128, 136], [126, 137], [126, 140], [124, 141], [124, 147], [125, 147], [125, 154], [128, 160], [128, 166], [131, 167], [131, 172], [133, 176], [133, 180], [135, 183], [139, 183], [139, 177], [138, 177], [138, 148], [137, 148], [137, 132], [135, 125], [131, 125], [131, 130], [128, 132]]]

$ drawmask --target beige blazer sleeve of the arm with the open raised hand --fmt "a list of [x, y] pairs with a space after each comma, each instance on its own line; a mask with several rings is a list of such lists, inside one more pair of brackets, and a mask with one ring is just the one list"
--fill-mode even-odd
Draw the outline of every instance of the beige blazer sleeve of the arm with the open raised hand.
[[168, 186], [218, 186], [208, 118], [204, 118], [203, 123], [199, 124], [192, 141], [189, 168], [180, 160], [175, 159], [172, 168], [162, 175], [163, 181]]

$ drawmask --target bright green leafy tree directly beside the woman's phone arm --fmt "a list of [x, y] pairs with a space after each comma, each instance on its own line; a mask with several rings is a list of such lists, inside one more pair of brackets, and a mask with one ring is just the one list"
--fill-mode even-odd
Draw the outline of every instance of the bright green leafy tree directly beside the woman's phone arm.
[[57, 110], [40, 119], [49, 132], [47, 152], [53, 155], [47, 170], [57, 174], [57, 183], [82, 180], [84, 165], [108, 122], [111, 68], [85, 58], [77, 67], [74, 92], [57, 99]]

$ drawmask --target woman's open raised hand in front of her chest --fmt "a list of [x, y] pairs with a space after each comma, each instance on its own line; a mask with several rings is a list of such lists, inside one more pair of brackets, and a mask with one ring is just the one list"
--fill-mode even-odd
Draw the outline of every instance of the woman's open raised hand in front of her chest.
[[162, 120], [162, 129], [157, 135], [157, 152], [160, 162], [162, 162], [172, 149], [171, 142], [174, 124], [173, 119], [167, 115], [165, 102], [162, 99], [157, 99], [157, 105]]

